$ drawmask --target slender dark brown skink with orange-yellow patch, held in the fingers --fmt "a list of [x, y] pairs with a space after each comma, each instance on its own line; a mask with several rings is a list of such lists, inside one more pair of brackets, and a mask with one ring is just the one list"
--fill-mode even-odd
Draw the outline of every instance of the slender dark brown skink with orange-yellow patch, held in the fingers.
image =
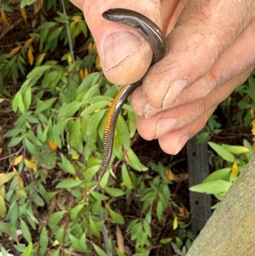
[[[152, 22], [152, 20], [145, 17], [141, 13], [133, 10], [115, 8], [105, 11], [103, 13], [103, 17], [106, 20], [131, 26], [139, 34], [141, 34], [152, 47], [153, 57], [151, 64], [160, 61], [166, 54], [166, 38], [163, 32], [154, 22]], [[129, 95], [136, 89], [136, 87], [140, 86], [140, 84], [142, 84], [142, 79], [140, 79], [138, 82], [135, 82], [135, 84], [122, 86], [119, 93], [117, 93], [115, 96], [112, 105], [110, 106], [110, 110], [108, 112], [105, 123], [105, 133], [103, 139], [103, 161], [99, 170], [98, 182], [101, 181], [101, 178], [105, 174], [110, 163], [113, 150], [115, 127], [120, 110], [122, 109]]]

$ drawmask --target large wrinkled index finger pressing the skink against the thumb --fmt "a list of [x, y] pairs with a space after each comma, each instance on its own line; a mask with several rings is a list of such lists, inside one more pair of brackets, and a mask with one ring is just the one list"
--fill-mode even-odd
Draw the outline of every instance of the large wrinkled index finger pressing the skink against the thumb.
[[189, 1], [168, 37], [168, 55], [150, 68], [143, 81], [147, 102], [166, 109], [180, 91], [203, 77], [251, 22], [253, 5], [253, 1]]

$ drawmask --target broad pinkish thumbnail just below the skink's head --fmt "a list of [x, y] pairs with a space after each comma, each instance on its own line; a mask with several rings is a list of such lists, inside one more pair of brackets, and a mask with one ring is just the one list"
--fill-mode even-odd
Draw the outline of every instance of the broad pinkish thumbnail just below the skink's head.
[[123, 59], [136, 52], [142, 46], [142, 41], [135, 34], [121, 31], [110, 34], [103, 46], [103, 67], [105, 72], [116, 66]]

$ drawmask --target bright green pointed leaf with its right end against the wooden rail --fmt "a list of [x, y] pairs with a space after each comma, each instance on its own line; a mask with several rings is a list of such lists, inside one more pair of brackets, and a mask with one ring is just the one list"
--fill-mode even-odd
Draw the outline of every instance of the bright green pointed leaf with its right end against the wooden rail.
[[218, 194], [218, 193], [226, 193], [230, 189], [231, 182], [229, 181], [209, 181], [206, 183], [201, 183], [195, 186], [191, 186], [189, 190], [193, 192], [199, 193], [207, 193], [207, 194]]

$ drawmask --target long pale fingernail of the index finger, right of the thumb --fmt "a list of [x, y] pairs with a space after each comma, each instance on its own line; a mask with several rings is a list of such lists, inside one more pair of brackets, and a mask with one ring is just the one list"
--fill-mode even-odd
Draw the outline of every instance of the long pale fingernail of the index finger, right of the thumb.
[[168, 92], [163, 98], [161, 103], [162, 109], [167, 109], [172, 103], [175, 102], [175, 98], [178, 94], [187, 86], [187, 79], [180, 79], [171, 82]]

